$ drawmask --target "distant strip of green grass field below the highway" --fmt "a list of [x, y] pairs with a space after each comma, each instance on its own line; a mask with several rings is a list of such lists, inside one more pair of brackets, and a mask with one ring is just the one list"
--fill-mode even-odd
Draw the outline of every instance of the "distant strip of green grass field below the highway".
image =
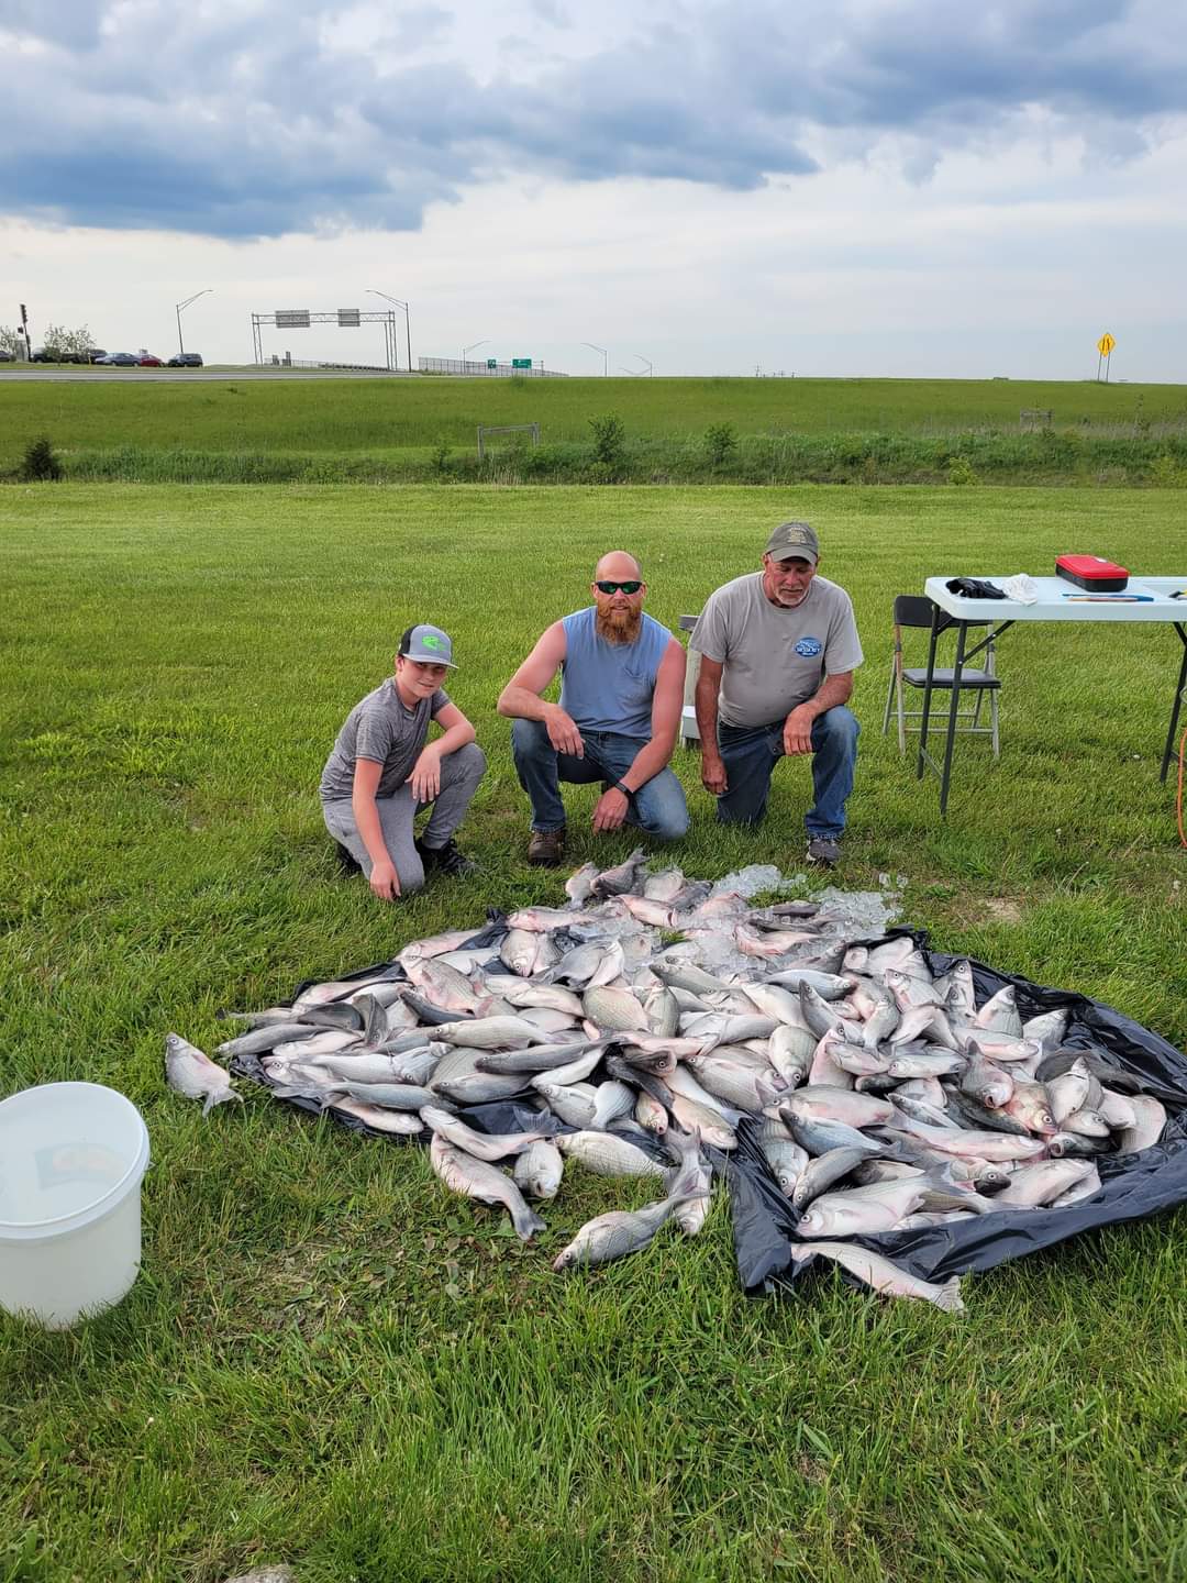
[[[185, 453], [383, 457], [459, 451], [478, 424], [538, 423], [541, 442], [589, 443], [589, 419], [616, 412], [631, 440], [700, 440], [709, 424], [772, 434], [946, 434], [1019, 427], [1182, 434], [1187, 386], [1095, 380], [399, 378], [0, 382], [0, 467], [47, 434], [66, 456], [120, 446]], [[505, 443], [505, 442], [503, 442]]]

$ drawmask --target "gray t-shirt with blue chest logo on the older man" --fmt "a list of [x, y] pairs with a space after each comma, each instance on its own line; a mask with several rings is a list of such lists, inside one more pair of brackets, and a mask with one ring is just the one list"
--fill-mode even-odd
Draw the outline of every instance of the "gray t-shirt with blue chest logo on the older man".
[[726, 725], [774, 725], [815, 697], [825, 676], [863, 660], [842, 587], [815, 576], [802, 605], [783, 609], [763, 594], [761, 571], [709, 595], [688, 647], [723, 666], [717, 712]]

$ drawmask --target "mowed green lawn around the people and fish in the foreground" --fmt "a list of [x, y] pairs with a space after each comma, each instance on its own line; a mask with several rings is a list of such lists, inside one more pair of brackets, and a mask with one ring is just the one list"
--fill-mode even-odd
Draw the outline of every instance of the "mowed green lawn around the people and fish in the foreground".
[[[549, 1260], [584, 1219], [650, 1194], [575, 1176], [521, 1247], [416, 1148], [250, 1091], [203, 1121], [161, 1072], [165, 1032], [210, 1048], [217, 1007], [559, 901], [560, 877], [522, 860], [499, 689], [586, 602], [601, 551], [638, 554], [674, 624], [788, 516], [817, 524], [867, 654], [840, 883], [901, 883], [939, 947], [1182, 1046], [1187, 863], [1157, 777], [1173, 630], [1011, 630], [1002, 760], [961, 744], [943, 825], [935, 782], [880, 736], [896, 592], [1048, 573], [1065, 549], [1187, 571], [1181, 502], [0, 492], [0, 1094], [109, 1083], [154, 1151], [130, 1296], [70, 1334], [0, 1319], [0, 1580], [215, 1583], [266, 1561], [302, 1583], [1187, 1575], [1182, 1213], [972, 1276], [964, 1319], [834, 1274], [745, 1298], [723, 1194], [700, 1239], [560, 1277]], [[339, 877], [317, 779], [418, 619], [453, 633], [451, 692], [491, 760], [462, 833], [483, 872], [385, 907]], [[780, 766], [752, 836], [719, 834], [696, 757], [676, 766], [685, 872], [798, 869], [806, 766]], [[573, 799], [573, 866], [628, 848], [594, 842], [590, 806]]]

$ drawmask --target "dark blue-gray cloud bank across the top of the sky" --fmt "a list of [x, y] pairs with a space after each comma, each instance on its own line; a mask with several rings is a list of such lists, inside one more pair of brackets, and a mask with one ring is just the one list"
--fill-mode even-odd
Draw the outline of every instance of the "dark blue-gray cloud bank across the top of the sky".
[[[554, 0], [532, 14], [565, 17]], [[442, 44], [437, 5], [396, 14], [394, 51], [345, 43], [342, 17], [331, 0], [0, 0], [0, 35], [41, 46], [0, 106], [0, 212], [225, 237], [408, 230], [508, 173], [749, 190], [886, 135], [926, 179], [1033, 108], [1119, 161], [1187, 109], [1174, 0], [714, 0], [514, 85], [461, 62], [383, 63]]]

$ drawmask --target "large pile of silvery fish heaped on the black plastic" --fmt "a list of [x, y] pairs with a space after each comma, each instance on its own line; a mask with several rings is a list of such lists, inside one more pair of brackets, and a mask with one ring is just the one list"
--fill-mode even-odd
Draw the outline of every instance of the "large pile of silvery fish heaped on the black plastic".
[[[584, 1225], [556, 1270], [636, 1252], [669, 1219], [695, 1235], [741, 1130], [796, 1216], [794, 1263], [945, 1309], [958, 1277], [921, 1281], [855, 1238], [1078, 1203], [1098, 1159], [1163, 1133], [1132, 1072], [1064, 1045], [1067, 1012], [1024, 1021], [1013, 988], [978, 1007], [970, 964], [937, 977], [910, 934], [855, 940], [844, 910], [753, 907], [728, 882], [647, 874], [641, 850], [565, 890], [567, 907], [226, 1013], [248, 1031], [218, 1054], [305, 1108], [427, 1130], [446, 1187], [505, 1205], [525, 1241], [544, 1230], [529, 1200], [556, 1197], [567, 1165], [658, 1184]], [[723, 937], [736, 966], [709, 972]], [[237, 1097], [176, 1034], [166, 1070], [207, 1110]]]

